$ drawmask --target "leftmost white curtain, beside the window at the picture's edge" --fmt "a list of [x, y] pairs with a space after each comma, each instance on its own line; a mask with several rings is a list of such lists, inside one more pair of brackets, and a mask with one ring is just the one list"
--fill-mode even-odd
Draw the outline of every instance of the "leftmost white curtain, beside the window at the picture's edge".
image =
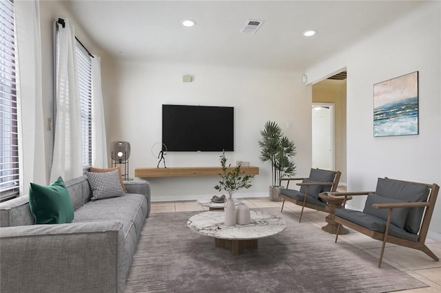
[[14, 1], [14, 9], [18, 68], [20, 195], [26, 195], [30, 182], [47, 183], [39, 1]]

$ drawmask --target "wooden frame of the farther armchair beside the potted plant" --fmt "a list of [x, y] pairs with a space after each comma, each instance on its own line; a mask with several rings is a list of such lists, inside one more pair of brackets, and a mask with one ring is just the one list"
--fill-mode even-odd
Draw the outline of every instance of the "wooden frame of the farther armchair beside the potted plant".
[[[300, 219], [298, 219], [299, 223], [302, 221], [303, 210], [305, 208], [312, 208], [313, 210], [318, 210], [320, 212], [326, 211], [325, 206], [316, 206], [315, 204], [310, 204], [309, 202], [306, 202], [308, 188], [309, 188], [309, 186], [314, 186], [314, 185], [331, 186], [331, 192], [335, 192], [337, 190], [338, 182], [340, 181], [340, 176], [342, 175], [342, 173], [340, 171], [330, 171], [330, 170], [324, 170], [324, 169], [318, 169], [318, 170], [333, 172], [334, 173], [334, 181], [333, 182], [308, 182], [308, 183], [301, 183], [300, 182], [300, 183], [297, 183], [296, 185], [298, 185], [298, 186], [306, 186], [305, 196], [303, 197], [303, 200], [301, 201], [301, 200], [293, 199], [293, 198], [288, 197], [286, 195], [280, 194], [280, 198], [283, 199], [282, 209], [280, 210], [280, 213], [283, 212], [283, 206], [285, 205], [285, 200], [287, 200], [288, 202], [292, 202], [293, 204], [297, 204], [298, 206], [302, 207], [302, 211], [300, 212]], [[289, 182], [291, 180], [304, 180], [304, 179], [309, 179], [309, 178], [307, 178], [307, 177], [281, 178], [280, 181], [287, 181], [287, 188], [288, 188]], [[345, 198], [345, 202], [346, 202], [346, 198]]]

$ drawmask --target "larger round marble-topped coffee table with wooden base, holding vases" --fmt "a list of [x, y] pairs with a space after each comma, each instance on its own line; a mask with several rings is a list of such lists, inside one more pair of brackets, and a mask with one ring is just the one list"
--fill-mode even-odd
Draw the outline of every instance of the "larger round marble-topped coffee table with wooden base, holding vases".
[[260, 210], [251, 210], [251, 221], [247, 225], [226, 226], [223, 221], [224, 212], [212, 210], [190, 217], [187, 226], [194, 232], [214, 237], [214, 247], [227, 248], [234, 255], [245, 248], [258, 248], [258, 239], [276, 235], [287, 228], [283, 219]]

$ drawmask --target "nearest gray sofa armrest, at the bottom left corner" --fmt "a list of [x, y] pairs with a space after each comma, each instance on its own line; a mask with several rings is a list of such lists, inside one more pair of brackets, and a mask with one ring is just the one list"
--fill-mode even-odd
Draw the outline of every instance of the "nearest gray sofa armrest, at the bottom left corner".
[[123, 224], [104, 221], [0, 228], [5, 292], [122, 292]]

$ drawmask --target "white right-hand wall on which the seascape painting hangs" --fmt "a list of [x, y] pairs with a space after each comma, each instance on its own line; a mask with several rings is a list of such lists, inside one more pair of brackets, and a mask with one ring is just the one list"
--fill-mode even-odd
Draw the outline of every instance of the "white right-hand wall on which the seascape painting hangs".
[[[347, 67], [348, 191], [378, 177], [441, 185], [441, 3], [433, 2], [307, 70], [309, 80]], [[419, 71], [420, 134], [373, 138], [373, 84]], [[441, 233], [441, 195], [431, 232]], [[364, 200], [353, 199], [356, 208]]]

